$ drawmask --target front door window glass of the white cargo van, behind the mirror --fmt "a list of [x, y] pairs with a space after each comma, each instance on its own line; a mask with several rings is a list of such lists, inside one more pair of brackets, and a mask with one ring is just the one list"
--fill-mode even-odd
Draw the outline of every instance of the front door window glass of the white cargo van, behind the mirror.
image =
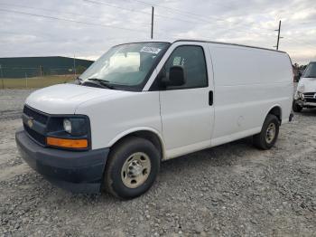
[[167, 90], [208, 86], [208, 75], [202, 47], [194, 45], [179, 46], [172, 52], [164, 65], [167, 76], [172, 66], [182, 66], [186, 73], [187, 81], [182, 86], [168, 87]]

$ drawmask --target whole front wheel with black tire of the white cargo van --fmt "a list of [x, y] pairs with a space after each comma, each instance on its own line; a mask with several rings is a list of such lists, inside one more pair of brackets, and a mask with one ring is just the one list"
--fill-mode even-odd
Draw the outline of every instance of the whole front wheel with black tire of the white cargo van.
[[135, 198], [153, 185], [160, 161], [160, 152], [150, 141], [141, 137], [124, 138], [110, 152], [104, 185], [120, 199]]

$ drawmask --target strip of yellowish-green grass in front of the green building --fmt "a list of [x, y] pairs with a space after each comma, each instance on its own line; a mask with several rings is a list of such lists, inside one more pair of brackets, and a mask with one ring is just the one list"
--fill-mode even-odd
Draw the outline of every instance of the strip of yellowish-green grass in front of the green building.
[[43, 88], [74, 81], [74, 75], [43, 76], [34, 78], [0, 78], [1, 89]]

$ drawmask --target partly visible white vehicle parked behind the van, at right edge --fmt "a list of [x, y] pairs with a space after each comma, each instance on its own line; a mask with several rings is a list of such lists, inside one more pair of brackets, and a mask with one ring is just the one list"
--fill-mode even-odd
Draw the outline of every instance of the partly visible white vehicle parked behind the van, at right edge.
[[294, 95], [294, 112], [301, 112], [303, 108], [316, 108], [316, 62], [308, 64]]

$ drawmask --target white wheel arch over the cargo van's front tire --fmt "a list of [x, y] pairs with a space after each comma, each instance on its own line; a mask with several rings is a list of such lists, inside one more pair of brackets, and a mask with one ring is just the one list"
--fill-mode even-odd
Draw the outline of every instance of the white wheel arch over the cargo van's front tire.
[[114, 139], [112, 139], [109, 142], [108, 147], [114, 147], [119, 141], [121, 141], [125, 137], [133, 137], [133, 136], [142, 137], [152, 142], [153, 146], [159, 150], [162, 160], [165, 158], [165, 146], [163, 143], [163, 136], [157, 130], [153, 128], [140, 127], [140, 128], [128, 129], [120, 133], [119, 135], [117, 135]]

